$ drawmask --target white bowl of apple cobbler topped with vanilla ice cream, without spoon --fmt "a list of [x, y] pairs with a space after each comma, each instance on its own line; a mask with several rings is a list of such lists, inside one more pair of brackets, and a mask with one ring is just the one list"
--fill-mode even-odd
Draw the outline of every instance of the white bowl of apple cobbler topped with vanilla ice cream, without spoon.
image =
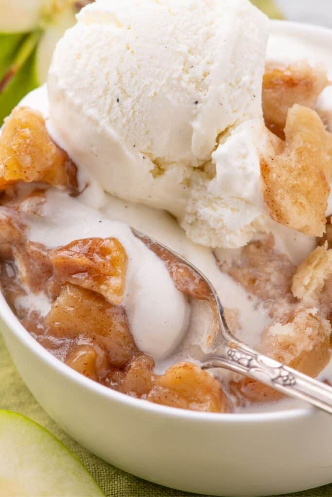
[[[174, 488], [266, 495], [329, 483], [330, 418], [279, 400], [256, 382], [226, 373], [220, 382], [189, 352], [179, 356], [189, 325], [208, 328], [204, 293], [128, 228], [194, 262], [216, 286], [229, 307], [229, 326], [244, 341], [330, 381], [330, 88], [326, 70], [299, 55], [306, 33], [315, 32], [314, 42], [320, 45], [321, 37], [325, 47], [330, 34], [275, 24], [272, 51], [284, 29], [298, 30], [299, 41], [295, 62], [283, 55], [269, 60], [265, 125], [267, 20], [247, 2], [224, 3], [224, 11], [213, 2], [206, 14], [196, 2], [183, 25], [181, 8], [162, 10], [180, 40], [164, 44], [170, 59], [157, 61], [156, 77], [147, 70], [158, 50], [149, 59], [142, 48], [144, 36], [155, 42], [156, 33], [140, 30], [142, 10], [129, 15], [99, 1], [82, 11], [58, 45], [48, 96], [45, 88], [29, 95], [2, 129], [1, 285], [21, 325], [4, 301], [1, 307], [22, 377], [85, 446]], [[159, 7], [150, 5], [149, 14], [164, 43], [169, 33]], [[188, 58], [180, 33], [190, 23], [198, 27], [199, 13], [208, 17], [203, 26], [214, 27], [194, 40], [206, 52], [193, 42]], [[227, 26], [247, 31], [238, 43], [223, 45], [215, 18], [229, 43]], [[107, 46], [107, 37], [115, 37], [118, 53], [124, 50], [110, 63], [116, 73], [102, 63], [99, 42]], [[90, 47], [82, 49], [88, 39], [100, 46], [94, 51], [99, 64], [88, 63]], [[221, 91], [216, 82], [230, 46], [238, 63], [228, 68], [230, 77], [226, 72], [229, 82], [223, 76], [231, 89]], [[83, 67], [87, 77], [80, 80]], [[135, 71], [146, 79], [135, 79]], [[104, 197], [98, 183], [113, 197]], [[171, 212], [186, 234], [156, 208]], [[205, 340], [203, 331], [199, 338]]]

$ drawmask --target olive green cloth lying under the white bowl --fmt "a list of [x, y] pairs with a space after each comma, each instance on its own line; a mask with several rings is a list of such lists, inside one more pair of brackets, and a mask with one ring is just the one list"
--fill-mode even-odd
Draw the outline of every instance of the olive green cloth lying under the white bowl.
[[[290, 0], [292, 1], [292, 0]], [[281, 17], [281, 13], [271, 0], [253, 0], [271, 17]], [[157, 497], [191, 496], [184, 492], [167, 489], [135, 478], [94, 456], [56, 425], [32, 397], [21, 380], [0, 336], [0, 408], [17, 411], [34, 419], [60, 438], [97, 480], [108, 497]], [[296, 464], [296, 461], [294, 461]], [[332, 484], [320, 489], [292, 494], [292, 496], [332, 497]]]

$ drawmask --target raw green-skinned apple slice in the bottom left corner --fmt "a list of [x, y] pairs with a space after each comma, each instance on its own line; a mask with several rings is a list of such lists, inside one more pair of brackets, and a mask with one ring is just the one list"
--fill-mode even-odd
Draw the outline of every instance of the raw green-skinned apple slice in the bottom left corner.
[[83, 464], [51, 433], [0, 410], [0, 496], [100, 497]]

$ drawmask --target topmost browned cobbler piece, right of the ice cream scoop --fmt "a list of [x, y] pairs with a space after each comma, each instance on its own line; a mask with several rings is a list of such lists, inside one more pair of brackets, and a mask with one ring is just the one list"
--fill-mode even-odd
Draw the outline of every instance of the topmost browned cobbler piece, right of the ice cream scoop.
[[314, 108], [319, 94], [329, 84], [326, 70], [305, 61], [289, 66], [269, 63], [263, 78], [262, 104], [266, 126], [280, 138], [288, 109], [298, 103]]

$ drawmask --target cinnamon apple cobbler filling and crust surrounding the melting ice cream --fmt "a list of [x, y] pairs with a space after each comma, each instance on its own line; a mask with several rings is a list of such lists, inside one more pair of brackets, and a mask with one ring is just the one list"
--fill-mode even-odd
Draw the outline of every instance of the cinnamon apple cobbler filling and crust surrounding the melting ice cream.
[[[262, 234], [220, 270], [268, 309], [271, 324], [257, 349], [312, 377], [331, 358], [332, 225], [325, 217], [332, 179], [332, 134], [314, 110], [328, 84], [305, 63], [271, 65], [263, 82], [269, 152], [261, 157], [262, 195], [270, 217], [317, 237], [317, 247], [296, 267]], [[206, 412], [232, 412], [281, 394], [244, 377], [219, 380], [192, 362], [163, 374], [141, 352], [130, 330], [123, 295], [128, 254], [116, 237], [82, 238], [47, 248], [29, 239], [28, 218], [42, 218], [46, 192], [80, 194], [77, 169], [50, 138], [37, 112], [19, 107], [0, 137], [0, 281], [3, 294], [27, 331], [50, 353], [86, 377], [118, 392], [157, 404]], [[175, 287], [188, 299], [209, 301], [207, 287], [188, 267], [169, 260]], [[29, 293], [47, 298], [44, 315], [22, 306]], [[236, 303], [226, 311], [236, 334]], [[227, 318], [227, 319], [228, 319]]]

